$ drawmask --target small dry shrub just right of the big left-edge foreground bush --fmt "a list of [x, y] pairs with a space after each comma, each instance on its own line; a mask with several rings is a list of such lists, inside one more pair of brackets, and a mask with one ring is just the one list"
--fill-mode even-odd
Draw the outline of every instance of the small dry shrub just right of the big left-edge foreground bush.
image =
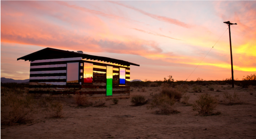
[[63, 104], [61, 102], [53, 102], [50, 106], [50, 115], [53, 118], [61, 118], [63, 117]]

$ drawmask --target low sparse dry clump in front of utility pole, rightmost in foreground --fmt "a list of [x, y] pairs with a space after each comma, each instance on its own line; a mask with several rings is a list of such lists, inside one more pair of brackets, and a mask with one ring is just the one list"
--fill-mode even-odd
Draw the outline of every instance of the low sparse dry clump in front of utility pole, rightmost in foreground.
[[234, 92], [232, 95], [225, 92], [223, 95], [223, 100], [220, 102], [225, 105], [244, 104], [244, 94], [238, 95], [236, 92]]

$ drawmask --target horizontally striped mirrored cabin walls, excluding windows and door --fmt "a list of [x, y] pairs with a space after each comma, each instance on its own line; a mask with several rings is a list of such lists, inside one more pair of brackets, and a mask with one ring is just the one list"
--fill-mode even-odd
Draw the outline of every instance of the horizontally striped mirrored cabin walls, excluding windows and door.
[[[67, 63], [79, 62], [79, 84], [66, 84]], [[83, 83], [83, 63], [93, 64], [93, 83]], [[130, 66], [78, 58], [35, 60], [30, 63], [30, 93], [106, 94], [106, 66], [113, 66], [113, 96], [130, 94]], [[125, 85], [119, 85], [119, 68], [125, 68]]]

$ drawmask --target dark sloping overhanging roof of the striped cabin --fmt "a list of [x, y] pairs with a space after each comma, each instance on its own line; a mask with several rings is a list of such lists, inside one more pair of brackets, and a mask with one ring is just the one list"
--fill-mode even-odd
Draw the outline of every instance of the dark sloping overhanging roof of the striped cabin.
[[33, 52], [31, 54], [25, 55], [23, 57], [18, 58], [17, 60], [23, 59], [25, 61], [34, 61], [34, 60], [42, 60], [42, 59], [59, 59], [59, 58], [75, 58], [75, 57], [82, 57], [83, 59], [92, 59], [92, 60], [100, 60], [100, 61], [105, 61], [105, 62], [112, 62], [120, 65], [125, 65], [125, 66], [140, 66], [135, 63], [131, 63], [128, 61], [124, 60], [119, 60], [119, 59], [112, 59], [108, 57], [101, 57], [101, 56], [94, 56], [94, 55], [89, 55], [89, 54], [83, 54], [83, 53], [78, 53], [78, 52], [71, 52], [71, 51], [65, 51], [65, 50], [60, 50], [60, 49], [54, 49], [54, 48], [44, 48], [42, 50]]

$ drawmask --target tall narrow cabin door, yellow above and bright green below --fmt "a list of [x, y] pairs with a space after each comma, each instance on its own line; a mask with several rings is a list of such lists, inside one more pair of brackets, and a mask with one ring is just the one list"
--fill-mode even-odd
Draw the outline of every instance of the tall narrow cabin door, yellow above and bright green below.
[[113, 83], [113, 67], [107, 66], [107, 87], [106, 87], [107, 94], [106, 94], [106, 96], [112, 95], [112, 83]]

